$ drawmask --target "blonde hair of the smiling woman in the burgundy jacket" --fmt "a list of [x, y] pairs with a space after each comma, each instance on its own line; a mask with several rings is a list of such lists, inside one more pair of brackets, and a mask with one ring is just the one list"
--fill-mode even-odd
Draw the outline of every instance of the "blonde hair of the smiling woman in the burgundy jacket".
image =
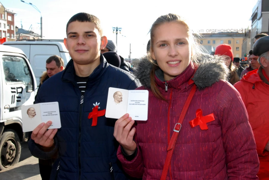
[[200, 55], [202, 52], [201, 45], [198, 44], [198, 42], [197, 42], [198, 34], [197, 34], [197, 36], [195, 36], [195, 34], [192, 33], [192, 31], [190, 30], [187, 23], [180, 16], [178, 16], [176, 14], [169, 13], [169, 14], [160, 16], [160, 17], [158, 17], [158, 19], [156, 19], [156, 21], [152, 24], [152, 27], [149, 31], [150, 32], [150, 50], [148, 53], [148, 59], [153, 64], [153, 68], [152, 68], [152, 71], [150, 73], [151, 90], [152, 90], [153, 94], [155, 95], [155, 97], [162, 99], [162, 100], [166, 100], [166, 99], [162, 96], [162, 94], [160, 93], [160, 91], [157, 88], [156, 83], [155, 83], [155, 71], [157, 69], [159, 69], [159, 67], [158, 67], [158, 64], [155, 63], [155, 61], [152, 59], [152, 51], [153, 51], [152, 50], [152, 43], [153, 43], [152, 41], [154, 39], [155, 29], [164, 23], [170, 23], [170, 22], [179, 22], [185, 26], [187, 33], [189, 35], [189, 42], [192, 45], [191, 46], [191, 53], [192, 53], [191, 61], [193, 62], [192, 63], [193, 65], [197, 65], [197, 66], [199, 65], [198, 59], [200, 59]]

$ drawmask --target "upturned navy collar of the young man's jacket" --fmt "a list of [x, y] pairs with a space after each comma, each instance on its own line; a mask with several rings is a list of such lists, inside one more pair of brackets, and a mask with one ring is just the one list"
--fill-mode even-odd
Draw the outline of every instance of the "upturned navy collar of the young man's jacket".
[[[94, 69], [94, 71], [89, 76], [89, 79], [87, 82], [92, 82], [98, 80], [102, 74], [105, 72], [106, 68], [108, 67], [108, 63], [106, 59], [103, 57], [103, 55], [100, 55], [100, 65], [97, 66], [97, 68]], [[75, 68], [74, 68], [74, 61], [71, 59], [66, 67], [65, 70], [62, 73], [62, 81], [66, 82], [72, 82], [74, 85], [77, 86], [77, 83], [75, 81]]]

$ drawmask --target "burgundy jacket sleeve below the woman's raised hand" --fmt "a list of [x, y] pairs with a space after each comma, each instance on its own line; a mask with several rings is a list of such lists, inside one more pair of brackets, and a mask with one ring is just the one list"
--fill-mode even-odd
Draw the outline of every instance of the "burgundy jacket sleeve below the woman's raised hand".
[[[135, 126], [136, 128], [137, 126]], [[142, 178], [144, 174], [144, 164], [143, 164], [143, 157], [142, 152], [140, 150], [139, 144], [137, 142], [137, 134], [134, 135], [134, 140], [137, 144], [137, 155], [135, 156], [132, 161], [128, 161], [125, 156], [123, 155], [123, 152], [121, 151], [121, 148], [119, 146], [117, 157], [120, 160], [123, 170], [131, 177], [134, 178]]]

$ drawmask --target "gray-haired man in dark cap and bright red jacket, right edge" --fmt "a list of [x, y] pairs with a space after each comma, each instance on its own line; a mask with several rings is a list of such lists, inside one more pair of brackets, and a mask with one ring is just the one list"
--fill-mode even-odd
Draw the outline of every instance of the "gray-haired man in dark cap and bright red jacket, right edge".
[[269, 36], [258, 39], [253, 54], [260, 67], [248, 72], [234, 87], [242, 96], [259, 155], [259, 179], [269, 177]]

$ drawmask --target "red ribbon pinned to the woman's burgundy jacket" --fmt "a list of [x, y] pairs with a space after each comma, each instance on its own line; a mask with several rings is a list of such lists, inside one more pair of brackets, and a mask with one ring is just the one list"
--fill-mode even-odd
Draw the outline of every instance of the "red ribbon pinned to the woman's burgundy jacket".
[[202, 109], [197, 109], [196, 110], [196, 118], [189, 121], [189, 124], [191, 125], [192, 128], [199, 125], [201, 130], [207, 130], [208, 129], [207, 123], [209, 123], [213, 120], [215, 120], [213, 113], [210, 115], [203, 116]]

